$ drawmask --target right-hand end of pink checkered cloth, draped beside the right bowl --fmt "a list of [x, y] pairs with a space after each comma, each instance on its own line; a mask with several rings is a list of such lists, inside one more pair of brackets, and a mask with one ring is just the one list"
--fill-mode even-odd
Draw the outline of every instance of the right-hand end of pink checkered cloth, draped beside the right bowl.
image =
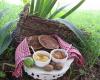
[[74, 58], [78, 66], [84, 65], [84, 58], [79, 50], [73, 47], [72, 44], [63, 41], [59, 36], [54, 35], [54, 37], [58, 40], [60, 48], [65, 49], [68, 52], [69, 58]]

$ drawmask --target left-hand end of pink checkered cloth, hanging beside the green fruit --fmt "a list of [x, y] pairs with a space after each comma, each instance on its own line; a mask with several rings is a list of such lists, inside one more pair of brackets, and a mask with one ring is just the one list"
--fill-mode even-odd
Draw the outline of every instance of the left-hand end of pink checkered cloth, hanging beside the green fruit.
[[18, 45], [16, 52], [15, 52], [15, 71], [13, 72], [13, 76], [20, 77], [22, 76], [22, 67], [23, 67], [23, 60], [26, 56], [31, 55], [28, 43], [26, 38]]

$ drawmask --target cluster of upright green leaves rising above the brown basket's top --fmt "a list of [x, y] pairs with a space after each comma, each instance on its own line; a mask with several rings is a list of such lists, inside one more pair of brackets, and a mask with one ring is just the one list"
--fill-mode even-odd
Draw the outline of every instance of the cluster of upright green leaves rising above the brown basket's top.
[[[53, 13], [51, 11], [54, 9], [54, 6], [58, 0], [23, 0], [23, 2], [30, 3], [30, 14], [34, 16], [39, 16], [42, 18], [54, 18], [58, 13], [62, 12], [69, 4], [66, 4]], [[85, 0], [80, 0], [74, 7], [72, 7], [69, 11], [65, 11], [64, 14], [60, 15], [59, 18], [66, 18], [72, 12], [74, 12]], [[51, 15], [49, 15], [51, 13]], [[49, 15], [49, 16], [48, 16]]]

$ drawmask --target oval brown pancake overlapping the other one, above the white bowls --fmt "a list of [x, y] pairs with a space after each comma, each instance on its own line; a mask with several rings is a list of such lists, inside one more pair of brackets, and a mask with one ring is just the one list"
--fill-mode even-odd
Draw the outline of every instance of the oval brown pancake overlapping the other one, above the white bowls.
[[40, 44], [47, 49], [58, 49], [59, 43], [50, 35], [40, 35], [38, 37]]

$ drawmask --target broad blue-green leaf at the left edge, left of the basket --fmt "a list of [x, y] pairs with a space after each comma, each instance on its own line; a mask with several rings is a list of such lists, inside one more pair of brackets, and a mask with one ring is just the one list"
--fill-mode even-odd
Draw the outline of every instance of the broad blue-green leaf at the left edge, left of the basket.
[[[0, 16], [3, 17], [5, 10], [0, 11]], [[3, 27], [0, 28], [0, 55], [8, 48], [11, 43], [11, 31], [13, 30], [14, 21], [6, 23]]]

